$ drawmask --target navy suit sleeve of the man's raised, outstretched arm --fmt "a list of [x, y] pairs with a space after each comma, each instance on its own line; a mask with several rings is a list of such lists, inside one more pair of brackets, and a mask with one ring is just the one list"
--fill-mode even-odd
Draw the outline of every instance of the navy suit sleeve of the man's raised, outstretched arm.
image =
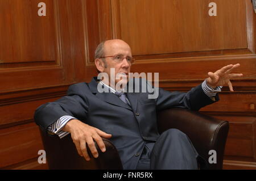
[[156, 87], [154, 89], [159, 90], [158, 98], [155, 99], [156, 109], [159, 111], [172, 107], [198, 111], [200, 108], [219, 100], [218, 95], [214, 97], [215, 101], [210, 99], [203, 91], [201, 84], [197, 87], [193, 87], [188, 92], [170, 92]]

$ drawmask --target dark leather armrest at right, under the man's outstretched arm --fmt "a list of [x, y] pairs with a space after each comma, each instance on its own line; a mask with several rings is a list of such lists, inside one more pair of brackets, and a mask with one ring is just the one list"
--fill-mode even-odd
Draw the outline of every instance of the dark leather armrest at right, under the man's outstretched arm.
[[[228, 121], [218, 120], [197, 111], [171, 108], [158, 113], [158, 130], [176, 128], [187, 134], [200, 157], [200, 169], [222, 169], [223, 155], [228, 136]], [[216, 150], [217, 163], [210, 164], [209, 151]]]

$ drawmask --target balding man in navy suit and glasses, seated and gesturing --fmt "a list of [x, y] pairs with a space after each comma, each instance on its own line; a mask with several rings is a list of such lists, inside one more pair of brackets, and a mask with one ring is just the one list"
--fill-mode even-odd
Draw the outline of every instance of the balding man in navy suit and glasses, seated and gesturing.
[[[123, 169], [197, 169], [198, 154], [189, 138], [177, 129], [159, 135], [156, 112], [171, 107], [200, 110], [217, 102], [216, 92], [226, 83], [233, 91], [230, 78], [242, 77], [242, 74], [231, 74], [240, 65], [228, 65], [215, 73], [209, 72], [203, 83], [184, 93], [152, 87], [143, 79], [127, 81], [133, 61], [131, 48], [125, 41], [102, 42], [96, 49], [95, 65], [98, 72], [106, 73], [108, 78], [94, 77], [90, 83], [70, 86], [67, 96], [36, 110], [36, 123], [60, 138], [71, 133], [78, 153], [87, 161], [90, 157], [86, 144], [97, 158], [94, 141], [104, 152], [101, 138], [104, 137], [117, 148]], [[121, 74], [123, 78], [113, 78], [110, 75], [112, 68], [114, 75]], [[116, 90], [117, 83], [127, 87]], [[146, 85], [146, 92], [141, 91], [142, 85]], [[130, 86], [132, 91], [122, 92]], [[108, 92], [100, 92], [102, 87]], [[137, 88], [139, 92], [134, 91]], [[158, 91], [158, 97], [148, 99], [148, 95], [155, 91]]]

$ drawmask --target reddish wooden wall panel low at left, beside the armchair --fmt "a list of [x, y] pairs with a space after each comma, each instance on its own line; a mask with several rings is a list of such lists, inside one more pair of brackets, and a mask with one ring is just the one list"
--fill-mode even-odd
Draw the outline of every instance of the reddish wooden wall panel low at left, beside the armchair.
[[38, 157], [43, 150], [38, 129], [35, 123], [0, 129], [0, 167]]

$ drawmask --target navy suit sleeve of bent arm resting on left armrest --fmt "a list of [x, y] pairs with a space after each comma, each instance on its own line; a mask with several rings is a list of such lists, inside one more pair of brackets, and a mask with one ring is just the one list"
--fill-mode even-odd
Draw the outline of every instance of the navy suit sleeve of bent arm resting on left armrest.
[[67, 96], [38, 107], [34, 115], [35, 123], [47, 131], [47, 127], [62, 116], [72, 116], [85, 121], [89, 107], [88, 101], [86, 96], [75, 94], [77, 91], [79, 91], [78, 85], [69, 86]]

